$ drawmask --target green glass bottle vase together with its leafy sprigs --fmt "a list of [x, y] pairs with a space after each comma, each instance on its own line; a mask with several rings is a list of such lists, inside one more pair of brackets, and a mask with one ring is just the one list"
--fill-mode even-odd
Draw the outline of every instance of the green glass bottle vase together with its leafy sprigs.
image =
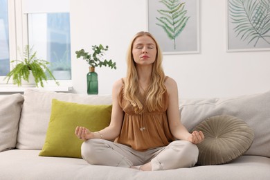
[[105, 59], [105, 51], [108, 51], [109, 46], [92, 46], [93, 53], [85, 52], [82, 48], [80, 51], [75, 51], [77, 58], [82, 57], [89, 64], [89, 73], [87, 73], [87, 93], [98, 94], [98, 74], [95, 67], [108, 66], [111, 69], [116, 69], [116, 62]]

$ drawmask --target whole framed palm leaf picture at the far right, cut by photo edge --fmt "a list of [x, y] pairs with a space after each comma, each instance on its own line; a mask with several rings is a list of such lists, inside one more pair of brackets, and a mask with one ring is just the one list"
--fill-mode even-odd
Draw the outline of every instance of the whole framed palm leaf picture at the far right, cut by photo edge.
[[[245, 0], [243, 1], [244, 4], [239, 2], [239, 0], [227, 0], [226, 2], [226, 51], [269, 51], [270, 15], [265, 12], [265, 15], [256, 18], [260, 13], [260, 8], [267, 8], [263, 2], [269, 3], [269, 1]], [[244, 12], [245, 8], [251, 10]], [[265, 19], [266, 23], [264, 23], [264, 17], [267, 18]], [[253, 20], [249, 21], [250, 19], [247, 18]], [[262, 30], [262, 33], [264, 33], [262, 37], [260, 37], [259, 31], [256, 33], [256, 26], [253, 28], [253, 24], [263, 24], [262, 26], [265, 26], [264, 31]]]

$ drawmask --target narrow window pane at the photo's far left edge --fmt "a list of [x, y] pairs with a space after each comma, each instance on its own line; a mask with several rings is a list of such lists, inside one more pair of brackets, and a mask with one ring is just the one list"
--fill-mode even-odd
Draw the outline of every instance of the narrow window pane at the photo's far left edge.
[[10, 71], [8, 0], [0, 0], [0, 76]]

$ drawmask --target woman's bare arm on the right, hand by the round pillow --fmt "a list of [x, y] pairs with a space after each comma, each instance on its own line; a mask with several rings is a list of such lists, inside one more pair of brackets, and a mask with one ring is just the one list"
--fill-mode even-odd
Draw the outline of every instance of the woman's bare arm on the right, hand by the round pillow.
[[181, 123], [177, 83], [172, 78], [168, 78], [165, 81], [165, 86], [169, 96], [167, 116], [172, 135], [177, 139], [190, 141], [195, 144], [204, 141], [204, 134], [202, 132], [192, 132], [190, 134], [188, 129]]

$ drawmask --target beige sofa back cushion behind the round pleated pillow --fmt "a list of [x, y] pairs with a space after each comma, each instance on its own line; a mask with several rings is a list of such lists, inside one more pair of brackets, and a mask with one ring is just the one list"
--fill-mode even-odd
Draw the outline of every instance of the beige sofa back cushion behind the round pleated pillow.
[[270, 157], [270, 91], [232, 98], [180, 100], [181, 122], [191, 131], [211, 116], [228, 114], [244, 120], [254, 130], [245, 154]]

